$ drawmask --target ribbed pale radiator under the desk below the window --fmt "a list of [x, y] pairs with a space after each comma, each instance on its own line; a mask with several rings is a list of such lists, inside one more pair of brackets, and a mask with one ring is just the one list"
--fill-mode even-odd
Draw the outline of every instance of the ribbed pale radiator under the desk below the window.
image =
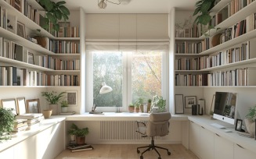
[[[136, 132], [135, 121], [101, 121], [100, 140], [150, 140]], [[160, 136], [154, 138], [160, 140]]]

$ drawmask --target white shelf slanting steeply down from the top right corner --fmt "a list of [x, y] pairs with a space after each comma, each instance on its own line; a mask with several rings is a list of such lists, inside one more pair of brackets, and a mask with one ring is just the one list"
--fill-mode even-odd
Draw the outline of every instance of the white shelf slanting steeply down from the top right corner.
[[[222, 0], [223, 1], [223, 0]], [[236, 12], [232, 16], [229, 16], [228, 19], [225, 19], [222, 23], [219, 23], [215, 28], [220, 28], [216, 31], [216, 29], [210, 30], [210, 35], [221, 33], [223, 30], [229, 28], [230, 26], [233, 26], [236, 23], [239, 23], [241, 20], [246, 19], [247, 16], [251, 15], [252, 13], [256, 12], [256, 1], [251, 2], [250, 5], [247, 5], [243, 9], [240, 9], [240, 11]], [[209, 34], [209, 31], [207, 31], [207, 34]], [[205, 36], [201, 36], [200, 38], [205, 38]]]

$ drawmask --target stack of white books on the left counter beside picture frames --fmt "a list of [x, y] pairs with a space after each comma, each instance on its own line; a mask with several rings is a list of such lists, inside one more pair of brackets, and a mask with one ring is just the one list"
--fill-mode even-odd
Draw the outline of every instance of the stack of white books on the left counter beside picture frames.
[[16, 119], [23, 119], [27, 121], [27, 130], [38, 128], [41, 120], [44, 119], [44, 116], [41, 113], [31, 113], [16, 115]]

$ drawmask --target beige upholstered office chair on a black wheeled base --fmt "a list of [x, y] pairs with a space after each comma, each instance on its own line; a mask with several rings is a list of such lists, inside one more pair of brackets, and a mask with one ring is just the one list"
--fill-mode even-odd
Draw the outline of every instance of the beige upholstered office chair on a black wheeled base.
[[167, 150], [168, 155], [171, 155], [171, 152], [164, 147], [157, 147], [154, 143], [153, 137], [154, 136], [166, 136], [169, 132], [169, 119], [171, 118], [171, 113], [169, 112], [162, 112], [162, 113], [151, 113], [149, 121], [145, 124], [144, 122], [136, 121], [137, 129], [136, 132], [142, 134], [142, 137], [149, 136], [151, 138], [151, 143], [149, 146], [138, 147], [137, 153], [139, 154], [140, 148], [147, 148], [144, 150], [140, 156], [140, 159], [143, 159], [143, 154], [146, 151], [152, 149], [155, 150], [158, 154], [158, 159], [161, 159], [159, 152], [156, 148]]

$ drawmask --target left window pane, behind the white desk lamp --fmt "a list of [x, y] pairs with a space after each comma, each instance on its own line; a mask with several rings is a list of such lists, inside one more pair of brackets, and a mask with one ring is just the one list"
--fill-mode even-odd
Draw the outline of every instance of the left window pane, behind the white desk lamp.
[[93, 98], [99, 94], [101, 83], [113, 91], [96, 97], [97, 107], [122, 106], [123, 64], [121, 52], [93, 52]]

